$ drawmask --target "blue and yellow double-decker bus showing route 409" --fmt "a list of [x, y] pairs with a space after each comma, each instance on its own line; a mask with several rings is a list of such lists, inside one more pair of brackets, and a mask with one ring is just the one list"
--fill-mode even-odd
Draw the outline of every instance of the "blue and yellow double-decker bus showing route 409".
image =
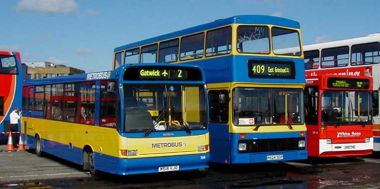
[[113, 67], [187, 63], [205, 71], [210, 161], [307, 158], [299, 23], [240, 15], [114, 49]]

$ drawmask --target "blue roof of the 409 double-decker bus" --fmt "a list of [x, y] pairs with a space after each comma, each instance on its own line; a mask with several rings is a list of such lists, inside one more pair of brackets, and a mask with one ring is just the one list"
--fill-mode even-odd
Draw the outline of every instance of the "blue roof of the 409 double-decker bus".
[[190, 27], [187, 29], [179, 30], [176, 32], [164, 34], [161, 36], [149, 38], [146, 40], [138, 41], [135, 43], [127, 44], [124, 46], [116, 47], [114, 49], [114, 52], [118, 52], [121, 50], [125, 49], [131, 49], [134, 47], [158, 42], [158, 41], [164, 41], [167, 39], [171, 38], [176, 38], [179, 36], [184, 36], [192, 33], [197, 33], [201, 32], [204, 30], [209, 30], [212, 28], [217, 28], [229, 24], [272, 24], [272, 25], [278, 25], [278, 26], [284, 26], [284, 27], [289, 27], [289, 28], [297, 28], [299, 29], [299, 23], [294, 20], [286, 19], [286, 18], [281, 18], [281, 17], [276, 17], [276, 16], [266, 16], [266, 15], [237, 15], [237, 16], [232, 16], [228, 18], [223, 18], [223, 19], [217, 19], [213, 22], [209, 22], [206, 24]]

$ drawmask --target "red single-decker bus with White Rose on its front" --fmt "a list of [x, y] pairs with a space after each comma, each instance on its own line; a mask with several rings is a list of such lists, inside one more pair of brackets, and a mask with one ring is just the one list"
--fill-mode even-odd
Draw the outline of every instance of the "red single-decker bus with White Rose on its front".
[[309, 156], [371, 154], [372, 77], [326, 74], [311, 81], [304, 97]]

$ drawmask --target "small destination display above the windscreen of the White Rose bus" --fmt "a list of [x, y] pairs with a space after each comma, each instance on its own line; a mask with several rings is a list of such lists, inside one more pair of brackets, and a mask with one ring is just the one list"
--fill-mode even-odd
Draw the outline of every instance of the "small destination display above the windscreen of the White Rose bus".
[[368, 79], [328, 78], [327, 86], [329, 88], [368, 89], [370, 81]]

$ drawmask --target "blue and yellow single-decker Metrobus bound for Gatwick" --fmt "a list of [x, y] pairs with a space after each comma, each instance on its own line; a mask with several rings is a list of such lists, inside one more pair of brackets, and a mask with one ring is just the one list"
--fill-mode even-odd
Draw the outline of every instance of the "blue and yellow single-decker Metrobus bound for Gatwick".
[[25, 80], [25, 143], [117, 175], [208, 167], [204, 74], [193, 65], [127, 64], [113, 71]]

